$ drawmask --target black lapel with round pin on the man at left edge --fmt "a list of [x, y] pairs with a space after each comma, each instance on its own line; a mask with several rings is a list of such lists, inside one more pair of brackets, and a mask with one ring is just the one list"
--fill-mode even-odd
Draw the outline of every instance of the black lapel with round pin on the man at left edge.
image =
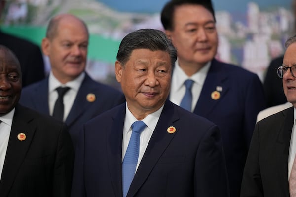
[[[25, 110], [26, 109], [21, 106], [17, 106], [15, 109], [0, 181], [1, 196], [8, 195], [36, 130], [35, 126], [28, 123], [32, 120], [32, 117], [28, 117], [27, 114], [24, 114]], [[17, 135], [19, 133], [26, 134], [26, 139], [24, 141], [18, 140]]]

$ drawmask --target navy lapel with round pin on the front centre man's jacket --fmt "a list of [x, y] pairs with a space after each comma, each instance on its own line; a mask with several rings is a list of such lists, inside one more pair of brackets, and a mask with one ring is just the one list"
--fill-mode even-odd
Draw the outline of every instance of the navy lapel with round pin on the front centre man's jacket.
[[[175, 123], [178, 119], [174, 105], [170, 101], [166, 101], [127, 196], [134, 196], [153, 170], [155, 164], [179, 130]], [[176, 127], [175, 133], [169, 134], [167, 132], [167, 128], [170, 126]]]

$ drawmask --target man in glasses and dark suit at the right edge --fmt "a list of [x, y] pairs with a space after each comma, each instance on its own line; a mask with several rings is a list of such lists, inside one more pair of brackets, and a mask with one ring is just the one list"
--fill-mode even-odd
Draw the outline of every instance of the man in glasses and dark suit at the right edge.
[[286, 41], [285, 47], [278, 76], [293, 107], [257, 123], [244, 169], [241, 197], [296, 196], [296, 35]]

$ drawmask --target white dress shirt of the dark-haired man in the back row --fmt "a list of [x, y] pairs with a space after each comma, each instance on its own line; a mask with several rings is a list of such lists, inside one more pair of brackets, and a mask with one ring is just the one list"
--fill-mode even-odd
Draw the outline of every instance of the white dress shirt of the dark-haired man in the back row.
[[211, 62], [207, 63], [203, 66], [198, 72], [193, 74], [191, 77], [188, 77], [182, 68], [178, 64], [178, 59], [175, 63], [175, 68], [172, 76], [172, 84], [171, 84], [171, 91], [170, 91], [170, 101], [173, 103], [180, 105], [181, 100], [185, 95], [185, 85], [184, 82], [187, 79], [192, 79], [194, 81], [192, 86], [192, 107], [191, 111], [195, 109], [197, 100], [199, 98], [201, 89], [207, 77], [208, 71], [210, 69]]

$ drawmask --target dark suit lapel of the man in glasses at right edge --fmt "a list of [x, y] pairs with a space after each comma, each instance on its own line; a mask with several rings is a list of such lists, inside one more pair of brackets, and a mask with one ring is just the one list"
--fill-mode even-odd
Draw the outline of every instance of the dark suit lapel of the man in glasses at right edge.
[[[282, 121], [279, 125], [279, 135], [276, 143], [276, 158], [278, 158], [277, 172], [278, 183], [282, 185], [285, 191], [284, 196], [289, 196], [289, 184], [288, 184], [288, 157], [290, 149], [291, 131], [293, 127], [294, 107], [289, 108], [282, 112]], [[284, 172], [284, 173], [283, 173]]]

